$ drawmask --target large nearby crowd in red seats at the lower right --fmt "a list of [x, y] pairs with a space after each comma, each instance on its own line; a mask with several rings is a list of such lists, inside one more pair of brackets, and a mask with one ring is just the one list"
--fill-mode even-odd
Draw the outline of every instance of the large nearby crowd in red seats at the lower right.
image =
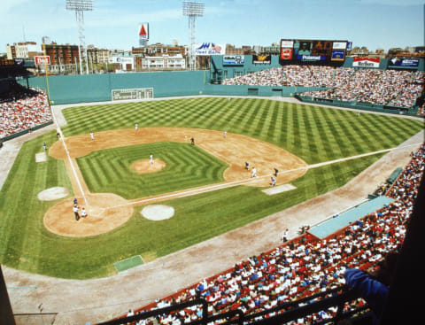
[[[394, 198], [389, 205], [322, 240], [307, 232], [273, 251], [244, 259], [220, 275], [197, 282], [169, 297], [157, 299], [150, 306], [130, 311], [130, 314], [199, 297], [208, 301], [210, 314], [236, 308], [243, 313], [257, 313], [340, 286], [345, 283], [344, 272], [347, 268], [374, 271], [385, 256], [399, 251], [403, 244], [424, 166], [425, 143], [422, 143], [418, 151], [412, 152], [412, 159], [398, 180], [390, 189], [386, 189], [387, 196]], [[360, 299], [356, 304], [364, 303]], [[350, 304], [344, 306], [346, 310], [352, 307]], [[298, 323], [315, 323], [332, 317], [335, 312], [330, 308], [300, 319]], [[268, 314], [268, 317], [273, 314]], [[177, 325], [201, 317], [201, 309], [194, 306], [153, 320], [138, 321], [137, 325]]]

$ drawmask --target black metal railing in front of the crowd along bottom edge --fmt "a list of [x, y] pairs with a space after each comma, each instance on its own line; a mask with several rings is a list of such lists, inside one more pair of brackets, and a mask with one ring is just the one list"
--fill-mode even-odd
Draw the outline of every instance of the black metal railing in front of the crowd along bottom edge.
[[354, 314], [368, 314], [368, 307], [359, 306], [352, 308], [352, 310], [344, 311], [345, 303], [352, 302], [359, 299], [359, 295], [353, 291], [348, 290], [345, 286], [337, 287], [331, 290], [326, 290], [313, 294], [305, 298], [283, 303], [273, 308], [258, 312], [244, 314], [241, 310], [230, 310], [227, 313], [216, 313], [213, 315], [208, 314], [208, 303], [203, 298], [191, 300], [182, 304], [158, 308], [148, 312], [135, 314], [128, 317], [121, 317], [112, 321], [104, 321], [97, 325], [121, 325], [121, 324], [135, 324], [136, 321], [146, 320], [151, 317], [173, 313], [183, 310], [189, 306], [202, 306], [202, 318], [197, 321], [191, 321], [189, 324], [208, 324], [213, 321], [222, 320], [220, 324], [276, 324], [285, 323], [289, 321], [296, 321], [299, 318], [308, 317], [321, 311], [326, 311], [330, 307], [336, 308], [336, 312], [326, 320], [326, 323], [336, 323], [344, 319], [349, 319]]

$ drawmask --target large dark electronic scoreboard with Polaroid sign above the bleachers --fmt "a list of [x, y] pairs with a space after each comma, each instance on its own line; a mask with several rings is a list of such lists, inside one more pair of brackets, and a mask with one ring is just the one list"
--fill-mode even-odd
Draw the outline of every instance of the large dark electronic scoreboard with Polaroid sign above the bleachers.
[[281, 64], [344, 63], [347, 41], [281, 40]]

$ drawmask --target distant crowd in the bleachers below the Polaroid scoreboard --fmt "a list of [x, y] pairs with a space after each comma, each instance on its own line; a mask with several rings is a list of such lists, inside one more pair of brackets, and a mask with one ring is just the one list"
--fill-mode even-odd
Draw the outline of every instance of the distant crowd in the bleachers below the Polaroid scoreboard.
[[332, 66], [282, 66], [223, 81], [226, 85], [317, 87], [303, 95], [412, 107], [423, 89], [421, 71]]

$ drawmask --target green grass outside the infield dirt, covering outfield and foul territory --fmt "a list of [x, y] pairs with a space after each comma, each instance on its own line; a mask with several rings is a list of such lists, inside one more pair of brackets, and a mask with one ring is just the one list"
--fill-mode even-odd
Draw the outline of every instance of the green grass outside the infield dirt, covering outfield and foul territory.
[[[421, 122], [262, 99], [178, 99], [138, 104], [67, 109], [65, 134], [112, 128], [187, 127], [227, 129], [275, 143], [309, 163], [328, 161], [396, 146], [423, 128]], [[57, 202], [36, 197], [53, 186], [71, 189], [63, 161], [35, 163], [42, 143], [56, 141], [51, 132], [25, 143], [0, 192], [0, 262], [28, 272], [86, 279], [112, 275], [114, 263], [141, 255], [165, 256], [251, 221], [334, 190], [381, 155], [352, 159], [309, 170], [292, 182], [297, 189], [267, 196], [238, 186], [163, 202], [174, 207], [167, 221], [134, 216], [120, 228], [89, 238], [57, 236], [42, 226], [44, 212]]]

